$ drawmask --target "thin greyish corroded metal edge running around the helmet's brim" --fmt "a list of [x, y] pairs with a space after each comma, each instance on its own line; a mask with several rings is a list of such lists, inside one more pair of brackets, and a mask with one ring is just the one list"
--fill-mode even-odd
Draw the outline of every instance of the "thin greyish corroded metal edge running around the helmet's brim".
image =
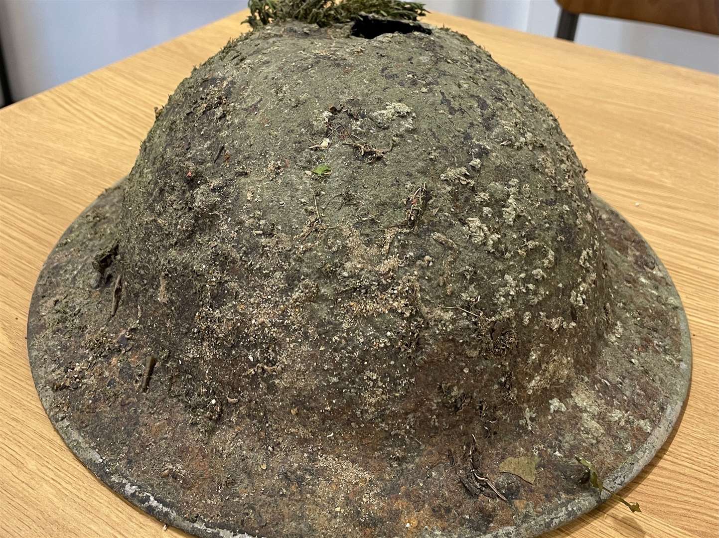
[[[93, 206], [106, 206], [108, 208], [106, 211], [113, 211], [119, 204], [119, 191], [120, 189], [118, 188], [109, 189], [109, 191], [103, 193], [99, 199], [93, 202], [91, 206], [88, 206], [88, 209], [86, 209], [83, 215], [87, 214]], [[641, 235], [638, 234], [636, 229], [634, 229], [631, 224], [626, 222], [626, 220], [619, 216], [616, 211], [611, 209], [610, 206], [605, 204], [605, 202], [601, 199], [595, 196], [594, 201], [595, 206], [600, 213], [609, 215], [610, 218], [613, 219], [613, 223], [621, 227], [622, 238], [626, 237], [628, 238], [627, 240], [633, 240], [635, 242], [641, 241], [644, 243], [646, 252], [654, 259], [656, 271], [661, 273], [662, 277], [666, 279], [667, 283], [669, 283], [669, 287], [671, 288], [669, 295], [674, 299], [675, 304], [677, 305], [678, 330], [680, 333], [677, 335], [677, 341], [679, 342], [678, 355], [680, 358], [679, 378], [672, 380], [673, 390], [669, 391], [671, 393], [669, 396], [669, 404], [654, 429], [652, 429], [649, 433], [649, 437], [646, 439], [644, 444], [641, 444], [641, 446], [639, 446], [636, 450], [633, 450], [633, 452], [626, 457], [621, 465], [615, 468], [613, 472], [609, 473], [604, 478], [605, 485], [610, 488], [610, 490], [617, 491], [638, 475], [641, 469], [649, 463], [661, 445], [664, 444], [671, 434], [672, 429], [681, 414], [682, 406], [689, 390], [692, 351], [690, 332], [687, 319], [684, 314], [684, 309], [666, 268], [664, 268], [664, 265], [661, 263], [659, 258], [656, 257], [654, 251], [651, 250], [649, 245], [646, 245], [646, 242], [644, 242]], [[63, 235], [63, 239], [58, 242], [58, 245], [48, 257], [48, 261], [42, 269], [41, 276], [43, 273], [47, 273], [48, 268], [52, 265], [53, 254], [56, 250], [58, 250], [59, 245], [63, 242], [67, 243], [68, 241], [71, 241], [69, 232], [73, 229], [73, 227], [85, 227], [91, 225], [88, 223], [87, 219], [83, 220], [83, 215], [79, 216], [78, 219], [73, 222], [73, 224], [68, 228], [68, 232], [65, 232], [65, 235]], [[91, 253], [73, 252], [73, 255], [82, 257], [91, 255]], [[615, 269], [623, 272], [624, 274], [631, 272], [633, 267], [627, 263], [626, 267], [619, 267]], [[127, 476], [122, 475], [122, 473], [117, 473], [117, 466], [108, 465], [104, 455], [99, 454], [93, 449], [91, 443], [83, 437], [83, 434], [81, 434], [77, 425], [73, 424], [63, 414], [53, 412], [53, 398], [55, 398], [55, 393], [51, 388], [51, 368], [49, 367], [55, 359], [54, 357], [51, 357], [49, 353], [38, 352], [37, 347], [32, 345], [37, 337], [37, 334], [34, 334], [33, 332], [33, 320], [35, 317], [39, 316], [38, 302], [40, 301], [40, 298], [38, 296], [38, 288], [40, 288], [40, 284], [38, 284], [35, 290], [29, 312], [29, 362], [42, 405], [45, 407], [45, 411], [48, 416], [50, 416], [53, 426], [58, 430], [58, 433], [73, 454], [75, 454], [75, 456], [78, 457], [78, 459], [81, 460], [81, 462], [83, 462], [83, 464], [86, 465], [86, 467], [89, 468], [97, 476], [97, 478], [108, 485], [113, 491], [126, 498], [142, 511], [155, 516], [157, 519], [170, 526], [175, 526], [186, 532], [196, 534], [201, 537], [253, 538], [249, 534], [244, 534], [244, 532], [238, 533], [236, 528], [237, 524], [234, 523], [234, 521], [226, 521], [222, 524], [216, 524], [212, 521], [203, 520], [202, 514], [200, 514], [200, 517], [195, 521], [190, 521], [181, 516], [178, 514], [178, 511], [170, 507], [172, 504], [161, 498], [157, 492], [151, 491], [150, 488], [142, 488], [133, 483], [132, 480], [129, 480]], [[52, 289], [52, 283], [50, 283], [50, 285], [46, 285], [45, 288]], [[47, 289], [45, 289], [45, 291], [47, 291]], [[651, 402], [649, 402], [649, 404], [651, 404]], [[122, 463], [119, 464], [119, 467], [122, 467]], [[115, 468], [115, 470], [112, 470], [112, 468]], [[148, 491], [149, 489], [150, 491]], [[595, 508], [595, 506], [605, 501], [606, 498], [608, 498], [607, 493], [599, 495], [593, 490], [579, 491], [574, 496], [564, 498], [562, 501], [554, 502], [551, 503], [550, 506], [546, 506], [546, 509], [544, 509], [541, 514], [533, 513], [519, 524], [513, 526], [503, 526], [489, 532], [488, 534], [482, 534], [482, 536], [493, 538], [536, 536], [537, 534], [546, 532], [549, 529], [554, 529], [562, 524], [566, 524], [573, 519], [577, 519], [577, 517], [581, 514], [590, 511]], [[428, 537], [431, 535], [433, 537], [444, 538], [452, 538], [455, 536], [459, 537], [459, 534], [437, 534], [437, 532], [426, 532], [425, 534], [419, 535], [426, 535]], [[272, 536], [271, 530], [270, 536]], [[462, 534], [462, 537], [464, 536], [467, 536], [467, 534]]]

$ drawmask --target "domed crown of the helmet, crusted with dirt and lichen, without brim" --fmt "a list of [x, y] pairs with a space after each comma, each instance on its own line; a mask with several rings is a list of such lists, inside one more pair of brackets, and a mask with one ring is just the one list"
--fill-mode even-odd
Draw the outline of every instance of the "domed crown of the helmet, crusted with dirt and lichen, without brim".
[[350, 29], [253, 32], [160, 112], [117, 231], [150, 350], [203, 416], [301, 402], [312, 436], [459, 378], [498, 405], [584, 373], [609, 297], [557, 120], [461, 35]]

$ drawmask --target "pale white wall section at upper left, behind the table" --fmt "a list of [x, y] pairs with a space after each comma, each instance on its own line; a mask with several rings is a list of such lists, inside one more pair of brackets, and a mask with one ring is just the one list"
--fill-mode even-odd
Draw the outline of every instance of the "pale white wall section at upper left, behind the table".
[[242, 0], [0, 0], [17, 101], [246, 6]]

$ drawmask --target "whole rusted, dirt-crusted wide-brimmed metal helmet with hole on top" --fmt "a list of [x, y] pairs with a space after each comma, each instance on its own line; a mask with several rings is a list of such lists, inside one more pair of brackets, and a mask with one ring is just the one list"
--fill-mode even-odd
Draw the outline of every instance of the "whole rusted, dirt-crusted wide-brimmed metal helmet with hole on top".
[[667, 270], [549, 109], [367, 15], [193, 70], [28, 334], [75, 455], [203, 537], [539, 534], [641, 470], [691, 370]]

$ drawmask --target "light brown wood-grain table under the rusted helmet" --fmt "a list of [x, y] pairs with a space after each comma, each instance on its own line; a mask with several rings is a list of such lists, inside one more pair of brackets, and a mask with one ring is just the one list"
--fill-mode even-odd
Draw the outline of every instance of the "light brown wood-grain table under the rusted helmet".
[[[25, 350], [30, 294], [65, 227], [127, 174], [153, 106], [246, 27], [227, 17], [0, 111], [0, 535], [180, 536], [75, 460], [35, 393]], [[432, 15], [490, 50], [554, 110], [617, 208], [667, 265], [694, 345], [676, 435], [625, 489], [552, 537], [716, 537], [718, 475], [718, 78], [467, 19]]]

